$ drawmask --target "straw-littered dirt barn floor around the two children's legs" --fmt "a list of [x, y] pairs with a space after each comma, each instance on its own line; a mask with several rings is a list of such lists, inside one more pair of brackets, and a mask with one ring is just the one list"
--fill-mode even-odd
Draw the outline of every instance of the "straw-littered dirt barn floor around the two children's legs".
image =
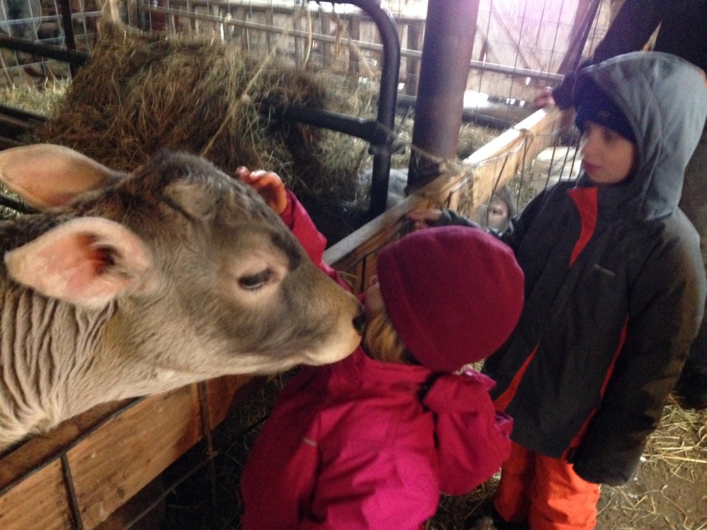
[[[213, 469], [196, 473], [168, 497], [162, 530], [240, 527], [240, 469], [287, 377], [264, 385], [218, 428]], [[496, 481], [464, 497], [444, 496], [426, 530], [495, 530], [486, 514]], [[707, 530], [707, 410], [686, 411], [671, 398], [636, 478], [620, 488], [602, 487], [599, 510], [597, 530]]]

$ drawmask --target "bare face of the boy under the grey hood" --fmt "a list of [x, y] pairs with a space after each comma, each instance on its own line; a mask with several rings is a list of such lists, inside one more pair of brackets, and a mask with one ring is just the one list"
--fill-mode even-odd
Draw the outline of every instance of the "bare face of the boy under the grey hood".
[[624, 182], [636, 161], [636, 144], [616, 131], [590, 120], [580, 141], [582, 167], [594, 184]]

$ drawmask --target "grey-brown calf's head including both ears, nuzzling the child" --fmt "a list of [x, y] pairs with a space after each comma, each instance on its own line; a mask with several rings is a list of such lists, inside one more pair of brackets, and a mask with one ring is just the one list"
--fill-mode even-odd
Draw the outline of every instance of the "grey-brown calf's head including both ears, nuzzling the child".
[[37, 145], [0, 152], [0, 177], [42, 209], [0, 223], [0, 287], [110, 314], [101, 355], [134, 363], [156, 390], [330, 363], [360, 340], [356, 299], [206, 160], [163, 152], [123, 175]]

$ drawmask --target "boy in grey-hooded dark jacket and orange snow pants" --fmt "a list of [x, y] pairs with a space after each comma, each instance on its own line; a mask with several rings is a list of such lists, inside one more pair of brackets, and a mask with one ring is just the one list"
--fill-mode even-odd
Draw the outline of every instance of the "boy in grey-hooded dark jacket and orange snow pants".
[[[500, 234], [525, 273], [513, 335], [484, 364], [514, 420], [497, 526], [595, 527], [599, 484], [633, 476], [702, 319], [699, 237], [678, 208], [705, 122], [704, 73], [633, 52], [578, 73], [582, 170]], [[418, 226], [468, 220], [411, 214]]]

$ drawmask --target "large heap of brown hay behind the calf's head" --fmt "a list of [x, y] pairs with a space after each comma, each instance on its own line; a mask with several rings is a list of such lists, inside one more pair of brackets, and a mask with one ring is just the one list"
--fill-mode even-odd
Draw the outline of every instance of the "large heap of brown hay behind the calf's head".
[[256, 60], [232, 43], [102, 20], [95, 51], [37, 141], [76, 148], [119, 170], [171, 148], [226, 172], [239, 165], [274, 170], [305, 196], [353, 193], [366, 143], [339, 135], [334, 144], [324, 129], [279, 122], [279, 105], [351, 102], [337, 102], [315, 76], [274, 54]]

